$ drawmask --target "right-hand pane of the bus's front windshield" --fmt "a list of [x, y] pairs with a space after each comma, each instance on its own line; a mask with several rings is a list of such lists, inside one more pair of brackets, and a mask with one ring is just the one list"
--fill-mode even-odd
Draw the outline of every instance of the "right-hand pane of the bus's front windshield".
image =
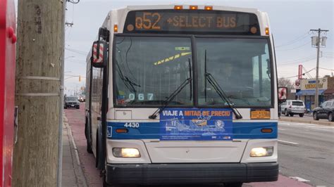
[[210, 74], [235, 106], [271, 106], [267, 39], [198, 38], [199, 105], [228, 105], [209, 84]]

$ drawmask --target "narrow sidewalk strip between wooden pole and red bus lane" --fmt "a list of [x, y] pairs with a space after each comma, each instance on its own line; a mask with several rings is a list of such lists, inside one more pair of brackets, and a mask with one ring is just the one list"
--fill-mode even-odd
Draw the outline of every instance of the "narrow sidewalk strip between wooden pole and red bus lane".
[[61, 186], [87, 186], [85, 176], [80, 167], [78, 151], [65, 115], [63, 115], [63, 119], [63, 171]]

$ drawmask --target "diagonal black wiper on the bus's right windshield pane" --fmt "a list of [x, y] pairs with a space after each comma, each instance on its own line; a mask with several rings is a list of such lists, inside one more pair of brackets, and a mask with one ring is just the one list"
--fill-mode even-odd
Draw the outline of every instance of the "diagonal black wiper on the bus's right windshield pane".
[[233, 113], [235, 114], [235, 118], [242, 119], [242, 115], [240, 114], [239, 111], [237, 111], [237, 108], [235, 108], [235, 105], [230, 101], [230, 99], [223, 91], [223, 89], [221, 89], [221, 86], [219, 86], [219, 84], [216, 82], [216, 79], [214, 79], [214, 77], [208, 72], [205, 72], [205, 77], [208, 80], [209, 84], [211, 84], [211, 86], [214, 87], [214, 89], [221, 97], [221, 99], [223, 99], [223, 101], [226, 101], [226, 103], [228, 103], [228, 106], [232, 109]]

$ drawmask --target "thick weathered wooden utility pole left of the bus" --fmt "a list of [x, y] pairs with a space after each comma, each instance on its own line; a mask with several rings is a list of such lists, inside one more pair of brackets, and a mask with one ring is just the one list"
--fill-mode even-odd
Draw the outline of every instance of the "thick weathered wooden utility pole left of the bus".
[[13, 186], [56, 186], [66, 0], [19, 0]]

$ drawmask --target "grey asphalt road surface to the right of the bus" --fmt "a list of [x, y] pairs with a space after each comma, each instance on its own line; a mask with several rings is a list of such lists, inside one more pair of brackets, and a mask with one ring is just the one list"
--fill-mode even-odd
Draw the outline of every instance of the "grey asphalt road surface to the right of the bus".
[[284, 176], [334, 186], [334, 127], [279, 122], [278, 162]]

